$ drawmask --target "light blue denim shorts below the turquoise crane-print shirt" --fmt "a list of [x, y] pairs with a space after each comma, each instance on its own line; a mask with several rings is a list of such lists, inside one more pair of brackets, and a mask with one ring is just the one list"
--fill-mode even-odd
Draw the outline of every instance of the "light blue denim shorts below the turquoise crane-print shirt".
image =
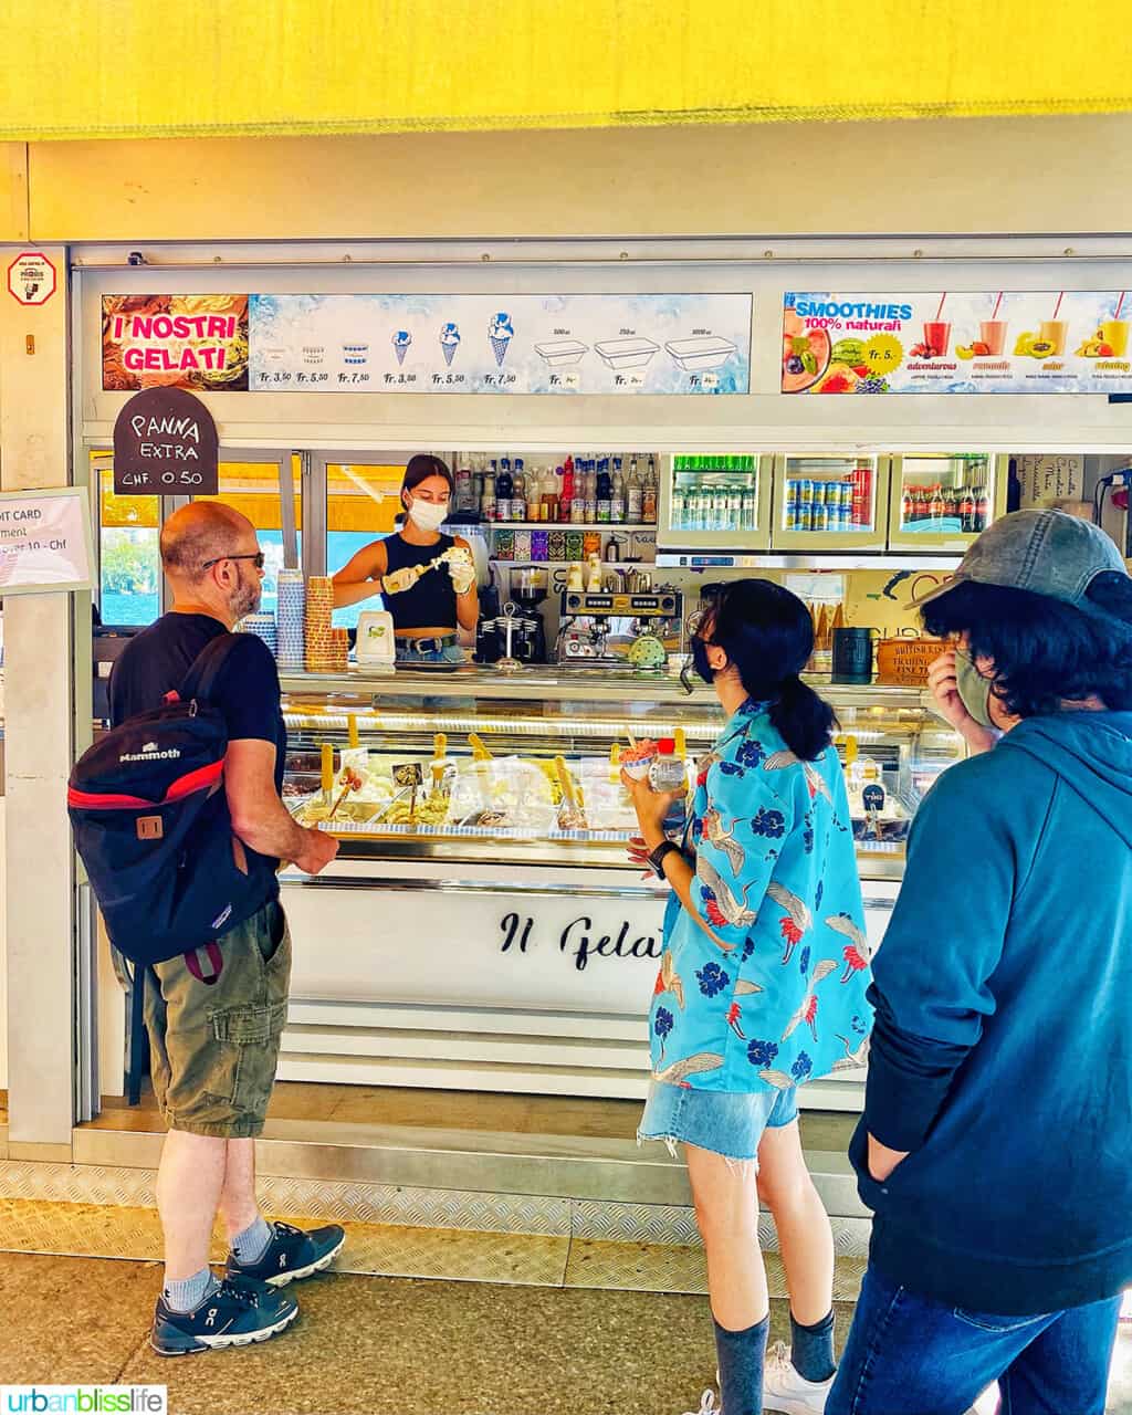
[[798, 1119], [798, 1087], [788, 1091], [698, 1091], [654, 1081], [637, 1131], [638, 1140], [676, 1140], [727, 1159], [757, 1160], [764, 1131]]

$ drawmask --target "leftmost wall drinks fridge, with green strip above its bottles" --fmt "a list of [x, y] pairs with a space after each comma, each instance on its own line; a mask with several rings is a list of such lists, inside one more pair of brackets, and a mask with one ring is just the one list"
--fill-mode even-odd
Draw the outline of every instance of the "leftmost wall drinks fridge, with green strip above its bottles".
[[662, 458], [658, 545], [766, 550], [773, 460], [754, 453], [674, 453]]

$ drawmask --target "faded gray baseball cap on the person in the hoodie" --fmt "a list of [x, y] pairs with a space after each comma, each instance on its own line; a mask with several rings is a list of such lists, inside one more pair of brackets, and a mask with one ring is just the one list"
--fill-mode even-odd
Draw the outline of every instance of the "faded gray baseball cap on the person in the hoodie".
[[983, 531], [954, 579], [916, 597], [910, 607], [930, 604], [968, 582], [1049, 594], [1085, 614], [1111, 618], [1087, 591], [1098, 574], [1112, 570], [1128, 576], [1116, 543], [1099, 526], [1064, 511], [1015, 511]]

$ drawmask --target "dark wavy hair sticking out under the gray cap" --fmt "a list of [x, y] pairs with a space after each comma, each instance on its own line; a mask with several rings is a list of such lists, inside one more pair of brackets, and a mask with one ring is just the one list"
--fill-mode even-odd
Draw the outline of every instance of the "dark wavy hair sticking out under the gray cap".
[[972, 658], [993, 659], [992, 692], [1012, 717], [1044, 717], [1094, 695], [1129, 709], [1132, 579], [1105, 570], [1087, 594], [1107, 614], [965, 580], [924, 606], [924, 627], [938, 638], [966, 634]]

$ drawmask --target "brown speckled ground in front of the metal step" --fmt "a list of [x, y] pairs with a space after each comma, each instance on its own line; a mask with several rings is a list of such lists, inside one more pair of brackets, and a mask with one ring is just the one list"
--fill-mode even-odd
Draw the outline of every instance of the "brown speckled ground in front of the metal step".
[[[0, 1381], [168, 1387], [173, 1415], [682, 1415], [712, 1381], [703, 1298], [328, 1274], [276, 1341], [167, 1361], [156, 1264], [0, 1254]], [[852, 1306], [838, 1306], [843, 1336]], [[784, 1336], [775, 1302], [771, 1337]], [[1132, 1332], [1109, 1415], [1132, 1415]], [[1073, 1411], [1058, 1415], [1077, 1415]]]

